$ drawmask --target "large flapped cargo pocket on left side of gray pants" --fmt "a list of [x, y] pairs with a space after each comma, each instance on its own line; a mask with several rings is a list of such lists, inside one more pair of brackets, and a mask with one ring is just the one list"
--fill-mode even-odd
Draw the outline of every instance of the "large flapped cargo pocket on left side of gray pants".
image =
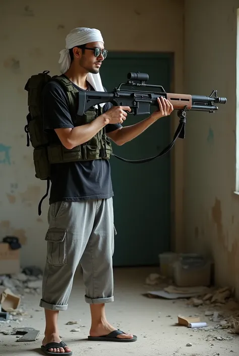
[[62, 266], [67, 264], [67, 230], [60, 228], [48, 229], [46, 262], [49, 265]]

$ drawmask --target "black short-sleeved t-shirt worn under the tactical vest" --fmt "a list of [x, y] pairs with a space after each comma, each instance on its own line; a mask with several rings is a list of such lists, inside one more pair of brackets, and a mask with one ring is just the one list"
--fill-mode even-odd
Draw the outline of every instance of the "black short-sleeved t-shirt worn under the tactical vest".
[[[83, 90], [72, 83], [78, 90]], [[91, 90], [94, 90], [91, 87]], [[105, 104], [103, 112], [111, 107]], [[51, 141], [60, 142], [54, 129], [74, 128], [69, 113], [68, 99], [61, 84], [48, 82], [42, 91], [44, 130]], [[121, 124], [106, 125], [106, 133], [120, 128]], [[109, 160], [79, 161], [51, 165], [49, 204], [56, 201], [103, 199], [113, 196]]]

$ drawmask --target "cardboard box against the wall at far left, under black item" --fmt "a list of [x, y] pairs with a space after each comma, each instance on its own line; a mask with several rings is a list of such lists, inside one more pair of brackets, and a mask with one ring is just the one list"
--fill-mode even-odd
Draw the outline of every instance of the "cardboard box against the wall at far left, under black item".
[[20, 273], [20, 249], [13, 250], [6, 242], [0, 243], [0, 275]]

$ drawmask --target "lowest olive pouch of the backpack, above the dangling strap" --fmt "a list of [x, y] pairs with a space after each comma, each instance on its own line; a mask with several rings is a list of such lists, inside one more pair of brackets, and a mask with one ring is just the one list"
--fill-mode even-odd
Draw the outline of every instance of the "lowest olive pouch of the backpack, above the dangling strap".
[[35, 176], [45, 180], [50, 176], [50, 165], [47, 158], [46, 147], [37, 147], [33, 150], [33, 161], [35, 166]]

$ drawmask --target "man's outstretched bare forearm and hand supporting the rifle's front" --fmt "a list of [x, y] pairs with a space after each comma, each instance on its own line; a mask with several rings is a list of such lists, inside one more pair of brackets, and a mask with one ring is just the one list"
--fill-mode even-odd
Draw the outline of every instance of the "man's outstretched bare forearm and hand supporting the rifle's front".
[[[162, 97], [161, 97], [162, 98]], [[156, 110], [147, 119], [138, 122], [135, 125], [118, 128], [115, 131], [108, 132], [107, 136], [117, 145], [121, 146], [126, 142], [133, 140], [144, 132], [149, 126], [163, 116], [168, 116], [173, 111], [171, 103], [166, 99], [158, 99], [159, 110]]]

